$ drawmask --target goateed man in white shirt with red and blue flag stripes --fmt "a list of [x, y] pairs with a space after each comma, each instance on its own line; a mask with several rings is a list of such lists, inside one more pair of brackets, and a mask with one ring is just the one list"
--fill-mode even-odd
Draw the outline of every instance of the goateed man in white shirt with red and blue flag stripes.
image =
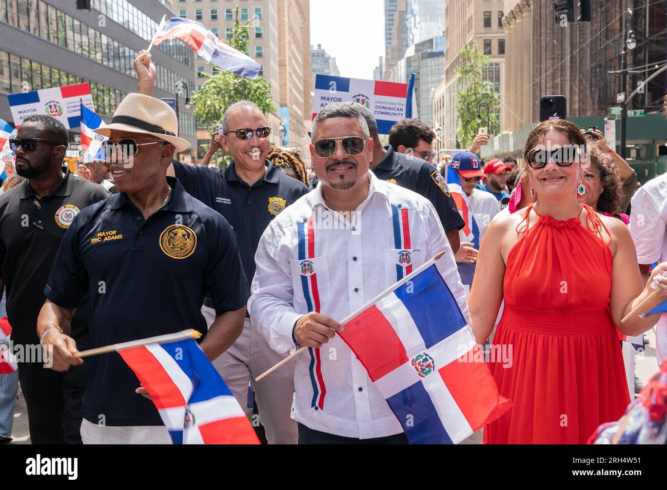
[[296, 358], [294, 373], [299, 443], [407, 443], [336, 332], [342, 319], [440, 251], [450, 263], [444, 280], [467, 317], [452, 247], [428, 199], [370, 171], [374, 141], [355, 105], [323, 108], [313, 119], [311, 141], [319, 183], [259, 241], [248, 301], [253, 325], [278, 352], [309, 348]]

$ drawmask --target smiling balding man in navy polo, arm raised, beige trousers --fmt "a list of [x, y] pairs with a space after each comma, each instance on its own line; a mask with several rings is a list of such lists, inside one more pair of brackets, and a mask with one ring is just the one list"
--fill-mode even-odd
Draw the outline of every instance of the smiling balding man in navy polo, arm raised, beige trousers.
[[[139, 79], [137, 91], [151, 95], [155, 65], [147, 51], [134, 60]], [[259, 238], [285, 207], [308, 193], [296, 179], [277, 170], [269, 160], [269, 131], [263, 113], [255, 103], [239, 101], [223, 115], [222, 149], [231, 153], [226, 169], [183, 165], [173, 161], [167, 175], [175, 175], [185, 190], [223, 215], [236, 233], [241, 262], [248, 281], [255, 275], [255, 251]], [[458, 237], [458, 234], [457, 234]], [[246, 291], [249, 295], [250, 288]], [[201, 309], [212, 319], [211, 303]], [[213, 361], [241, 407], [247, 405], [248, 383], [255, 391], [259, 421], [269, 444], [296, 444], [297, 425], [290, 417], [294, 393], [295, 363], [285, 365], [255, 383], [255, 377], [281, 361], [286, 355], [275, 352], [261, 333], [251, 327], [246, 315], [243, 333], [219, 359]]]

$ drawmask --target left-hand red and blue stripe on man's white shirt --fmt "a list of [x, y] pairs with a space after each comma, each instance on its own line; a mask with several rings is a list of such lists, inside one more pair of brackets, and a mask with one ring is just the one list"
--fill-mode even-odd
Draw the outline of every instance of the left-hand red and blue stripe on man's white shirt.
[[[313, 267], [312, 261], [315, 257], [315, 229], [313, 227], [313, 217], [311, 216], [306, 223], [299, 221], [297, 223], [297, 233], [299, 235], [299, 260], [301, 261], [301, 287], [303, 288], [303, 297], [308, 307], [308, 311], [317, 311], [319, 313], [319, 291], [317, 290], [317, 271], [315, 269], [304, 269], [304, 267]], [[308, 272], [309, 271], [309, 272]], [[313, 399], [311, 407], [324, 409], [324, 397], [327, 389], [324, 385], [322, 376], [322, 363], [320, 350], [318, 348], [308, 347], [310, 363], [308, 373], [313, 387]]]

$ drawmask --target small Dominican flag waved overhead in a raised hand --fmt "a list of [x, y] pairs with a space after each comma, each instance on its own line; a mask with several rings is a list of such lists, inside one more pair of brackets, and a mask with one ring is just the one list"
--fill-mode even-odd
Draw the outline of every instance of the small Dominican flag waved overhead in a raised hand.
[[185, 41], [197, 55], [235, 75], [251, 79], [256, 79], [259, 75], [261, 66], [255, 60], [220, 41], [215, 34], [197, 21], [181, 17], [166, 19], [157, 28], [154, 44], [157, 46], [170, 37]]

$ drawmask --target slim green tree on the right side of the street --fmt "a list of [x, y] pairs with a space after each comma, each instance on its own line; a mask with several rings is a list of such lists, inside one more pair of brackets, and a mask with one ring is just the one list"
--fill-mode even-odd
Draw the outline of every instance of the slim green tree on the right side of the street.
[[485, 81], [483, 73], [490, 58], [480, 53], [476, 42], [464, 45], [459, 51], [461, 66], [456, 69], [458, 89], [456, 90], [456, 111], [460, 126], [457, 131], [462, 148], [468, 147], [478, 133], [480, 126], [486, 126], [486, 111], [490, 112], [489, 134], [498, 134], [496, 111], [500, 107], [498, 93], [493, 84]]

